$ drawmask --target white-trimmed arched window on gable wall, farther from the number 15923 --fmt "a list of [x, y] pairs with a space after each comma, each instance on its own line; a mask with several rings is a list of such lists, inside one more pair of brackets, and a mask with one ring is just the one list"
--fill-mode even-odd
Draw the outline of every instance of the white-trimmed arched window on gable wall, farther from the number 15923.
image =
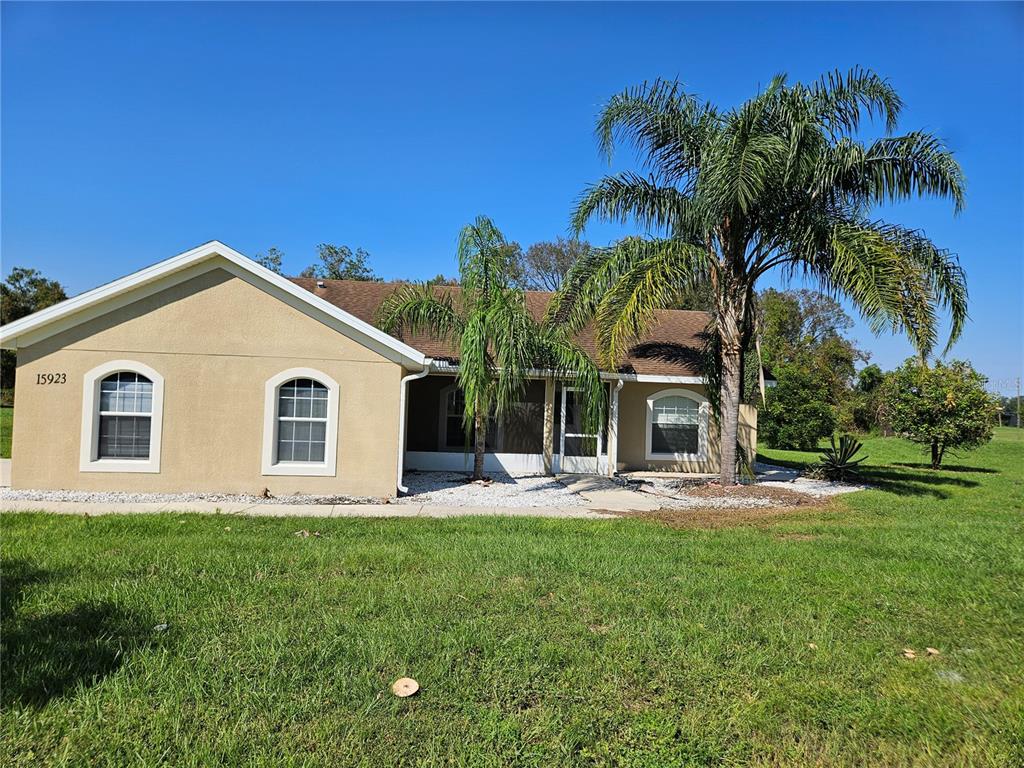
[[335, 475], [338, 384], [311, 369], [284, 371], [266, 383], [263, 474]]

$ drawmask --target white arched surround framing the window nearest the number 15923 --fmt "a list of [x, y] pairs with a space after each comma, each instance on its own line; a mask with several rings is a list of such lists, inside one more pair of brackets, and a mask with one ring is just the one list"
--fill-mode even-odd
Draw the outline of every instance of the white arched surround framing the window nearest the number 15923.
[[[112, 374], [132, 373], [153, 382], [153, 412], [150, 414], [148, 459], [99, 458], [99, 385]], [[164, 425], [164, 377], [136, 360], [111, 360], [89, 371], [82, 382], [82, 438], [80, 472], [160, 472], [160, 445]]]

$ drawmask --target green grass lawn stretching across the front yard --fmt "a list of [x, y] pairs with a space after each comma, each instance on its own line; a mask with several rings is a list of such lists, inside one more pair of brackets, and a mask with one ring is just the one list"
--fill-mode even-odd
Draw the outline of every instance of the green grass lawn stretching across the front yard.
[[4, 515], [0, 763], [1020, 765], [1022, 434], [866, 442], [710, 530]]

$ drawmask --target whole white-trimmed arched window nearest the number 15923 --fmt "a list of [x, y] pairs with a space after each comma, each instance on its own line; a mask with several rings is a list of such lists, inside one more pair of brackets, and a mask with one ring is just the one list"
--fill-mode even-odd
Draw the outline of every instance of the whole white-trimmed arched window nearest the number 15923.
[[164, 379], [148, 366], [115, 360], [85, 375], [83, 472], [159, 472]]

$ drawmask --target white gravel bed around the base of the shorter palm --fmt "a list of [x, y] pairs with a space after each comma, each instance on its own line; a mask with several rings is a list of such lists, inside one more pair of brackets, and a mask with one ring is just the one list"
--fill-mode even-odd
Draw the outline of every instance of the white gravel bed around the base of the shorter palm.
[[447, 507], [585, 507], [587, 500], [548, 475], [488, 472], [488, 484], [469, 482], [463, 472], [407, 472], [409, 495], [398, 504]]

